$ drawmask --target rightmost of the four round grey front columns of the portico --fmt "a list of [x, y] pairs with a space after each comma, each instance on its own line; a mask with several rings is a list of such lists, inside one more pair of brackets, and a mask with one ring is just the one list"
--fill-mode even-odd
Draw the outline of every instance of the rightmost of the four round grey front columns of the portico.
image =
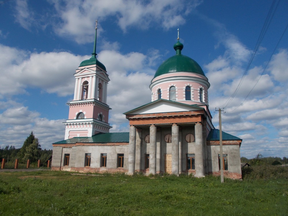
[[204, 159], [203, 159], [203, 127], [201, 123], [195, 125], [195, 169], [196, 177], [204, 177]]

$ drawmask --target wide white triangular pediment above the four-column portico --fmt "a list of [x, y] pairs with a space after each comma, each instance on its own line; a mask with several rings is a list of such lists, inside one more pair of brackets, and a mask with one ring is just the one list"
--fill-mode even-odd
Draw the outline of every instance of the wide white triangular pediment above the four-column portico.
[[202, 110], [202, 107], [187, 105], [169, 100], [160, 99], [155, 102], [140, 106], [136, 109], [125, 112], [124, 114], [149, 114], [149, 113], [162, 113], [162, 112], [183, 112]]

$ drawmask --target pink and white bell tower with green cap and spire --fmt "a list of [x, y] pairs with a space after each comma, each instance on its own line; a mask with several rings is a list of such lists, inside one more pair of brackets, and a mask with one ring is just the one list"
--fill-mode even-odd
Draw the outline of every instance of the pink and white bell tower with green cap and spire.
[[106, 104], [106, 67], [96, 58], [97, 21], [92, 57], [80, 63], [76, 70], [74, 99], [68, 103], [69, 117], [64, 123], [65, 140], [73, 137], [108, 133], [109, 106]]

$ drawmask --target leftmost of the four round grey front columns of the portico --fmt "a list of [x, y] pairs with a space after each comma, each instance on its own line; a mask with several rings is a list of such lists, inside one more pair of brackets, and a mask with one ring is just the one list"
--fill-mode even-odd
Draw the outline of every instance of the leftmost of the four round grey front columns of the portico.
[[129, 132], [129, 156], [128, 156], [128, 175], [135, 172], [135, 151], [136, 151], [136, 127], [130, 126]]

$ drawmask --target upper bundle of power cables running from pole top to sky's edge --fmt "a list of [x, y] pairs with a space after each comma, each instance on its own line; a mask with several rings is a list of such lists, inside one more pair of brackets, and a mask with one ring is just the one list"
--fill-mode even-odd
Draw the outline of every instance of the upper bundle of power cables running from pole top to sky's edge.
[[[279, 1], [280, 1], [280, 0], [279, 0]], [[248, 63], [248, 65], [247, 65], [247, 67], [246, 67], [246, 70], [245, 70], [244, 74], [242, 75], [242, 78], [240, 79], [237, 88], [236, 88], [235, 91], [232, 93], [232, 95], [230, 96], [230, 98], [225, 102], [225, 104], [223, 105], [223, 108], [227, 107], [227, 106], [232, 102], [232, 100], [233, 100], [234, 97], [236, 96], [237, 92], [239, 91], [240, 86], [242, 85], [242, 83], [243, 83], [243, 81], [244, 81], [244, 78], [245, 78], [245, 76], [246, 76], [247, 73], [248, 73], [249, 67], [250, 67], [250, 65], [251, 65], [251, 63], [252, 63], [252, 61], [253, 61], [253, 59], [254, 59], [254, 56], [255, 56], [255, 54], [256, 54], [256, 52], [257, 52], [257, 50], [258, 50], [258, 48], [259, 48], [259, 46], [260, 46], [260, 44], [261, 44], [261, 42], [262, 42], [262, 40], [263, 40], [264, 35], [266, 34], [266, 31], [267, 31], [267, 29], [268, 29], [268, 27], [269, 27], [269, 25], [270, 25], [270, 23], [271, 23], [271, 20], [272, 20], [274, 14], [275, 14], [275, 12], [276, 12], [276, 9], [277, 9], [277, 7], [278, 7], [279, 1], [278, 1], [277, 5], [276, 5], [274, 11], [273, 11], [273, 8], [274, 8], [275, 0], [272, 2], [272, 5], [271, 5], [271, 7], [270, 7], [270, 10], [269, 10], [269, 12], [268, 12], [268, 14], [267, 14], [267, 16], [266, 16], [266, 20], [265, 20], [265, 22], [264, 22], [264, 25], [263, 25], [263, 27], [262, 27], [262, 30], [261, 30], [260, 35], [259, 35], [259, 37], [258, 37], [258, 40], [257, 40], [257, 42], [256, 42], [256, 46], [255, 46], [255, 48], [254, 48], [254, 50], [253, 50], [252, 56], [251, 56], [251, 58], [250, 58], [250, 60], [249, 60], [249, 63]]]

